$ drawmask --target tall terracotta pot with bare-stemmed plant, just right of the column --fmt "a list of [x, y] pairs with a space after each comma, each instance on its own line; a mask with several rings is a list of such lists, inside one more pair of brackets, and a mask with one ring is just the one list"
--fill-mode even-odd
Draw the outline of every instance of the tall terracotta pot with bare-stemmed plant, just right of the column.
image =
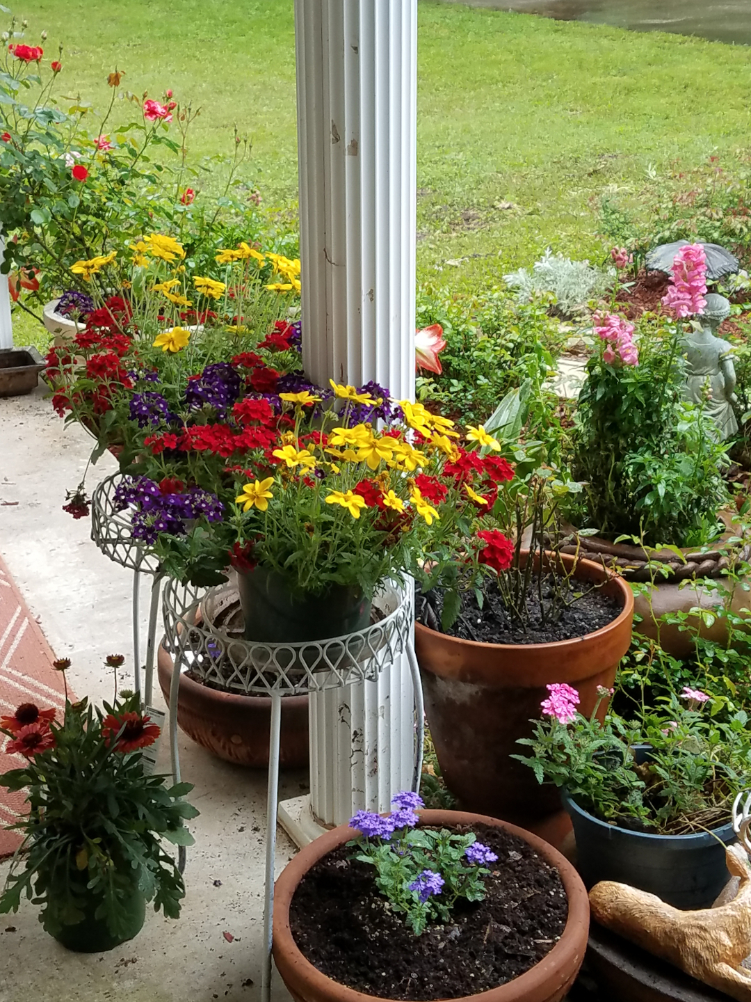
[[491, 454], [465, 454], [449, 469], [476, 493], [494, 478], [492, 516], [502, 528], [481, 531], [455, 563], [453, 589], [423, 602], [416, 651], [426, 711], [442, 775], [463, 808], [552, 825], [546, 833], [558, 838], [557, 792], [541, 793], [510, 757], [517, 738], [531, 735], [546, 685], [576, 684], [594, 709], [598, 686], [613, 684], [628, 650], [633, 596], [602, 566], [547, 548], [562, 499], [579, 485], [540, 465], [529, 447], [509, 453], [516, 470], [497, 441], [485, 447]]

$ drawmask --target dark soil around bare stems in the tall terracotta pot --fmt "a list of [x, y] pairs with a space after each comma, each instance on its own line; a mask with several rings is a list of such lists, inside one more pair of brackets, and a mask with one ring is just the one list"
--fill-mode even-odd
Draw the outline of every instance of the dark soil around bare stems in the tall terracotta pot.
[[[543, 622], [537, 578], [533, 578], [527, 595], [529, 625], [526, 629], [510, 616], [496, 585], [486, 587], [482, 609], [475, 592], [467, 591], [462, 596], [459, 617], [448, 634], [462, 640], [478, 640], [483, 643], [554, 643], [594, 633], [612, 622], [623, 609], [619, 596], [606, 595], [600, 588], [587, 591], [581, 598], [576, 598], [578, 592], [575, 589], [567, 585], [561, 587], [563, 602], [571, 604], [559, 603], [560, 615]], [[546, 580], [543, 582], [543, 605], [546, 609], [550, 606], [551, 597], [552, 586]], [[443, 595], [438, 588], [426, 595], [419, 595], [418, 621], [431, 629], [445, 632], [441, 629], [443, 605]]]

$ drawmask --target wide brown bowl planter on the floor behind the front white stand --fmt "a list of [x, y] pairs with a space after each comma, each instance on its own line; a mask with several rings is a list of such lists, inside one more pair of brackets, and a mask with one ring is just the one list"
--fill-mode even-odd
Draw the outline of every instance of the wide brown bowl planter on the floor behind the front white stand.
[[[172, 658], [160, 645], [157, 671], [167, 702], [172, 668]], [[225, 762], [252, 769], [268, 765], [271, 700], [267, 696], [209, 688], [181, 674], [177, 723], [188, 737]], [[281, 700], [279, 765], [301, 769], [307, 765], [307, 696], [285, 696]]]

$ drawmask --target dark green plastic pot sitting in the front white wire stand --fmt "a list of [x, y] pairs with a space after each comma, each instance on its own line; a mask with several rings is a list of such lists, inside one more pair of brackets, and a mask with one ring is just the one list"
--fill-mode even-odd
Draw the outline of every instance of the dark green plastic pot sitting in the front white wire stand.
[[324, 640], [370, 624], [370, 600], [359, 588], [331, 585], [322, 595], [298, 599], [290, 594], [281, 574], [265, 567], [238, 572], [237, 585], [247, 640]]

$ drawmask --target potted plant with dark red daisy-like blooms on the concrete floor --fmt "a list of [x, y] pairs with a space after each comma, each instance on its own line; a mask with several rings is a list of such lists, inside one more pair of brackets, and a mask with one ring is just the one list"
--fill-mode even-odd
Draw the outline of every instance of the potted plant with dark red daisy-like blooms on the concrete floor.
[[[65, 670], [68, 661], [56, 666]], [[107, 658], [110, 666], [120, 655]], [[27, 759], [0, 777], [27, 790], [29, 814], [11, 826], [23, 834], [0, 896], [0, 913], [17, 911], [25, 894], [41, 905], [39, 921], [63, 946], [83, 953], [132, 939], [154, 902], [178, 918], [182, 876], [161, 840], [192, 845], [184, 821], [197, 811], [181, 798], [187, 783], [165, 786], [144, 769], [143, 748], [159, 728], [122, 694], [103, 709], [66, 700], [61, 722], [52, 709], [20, 705], [0, 718], [6, 750]], [[23, 864], [23, 868], [21, 866]]]

